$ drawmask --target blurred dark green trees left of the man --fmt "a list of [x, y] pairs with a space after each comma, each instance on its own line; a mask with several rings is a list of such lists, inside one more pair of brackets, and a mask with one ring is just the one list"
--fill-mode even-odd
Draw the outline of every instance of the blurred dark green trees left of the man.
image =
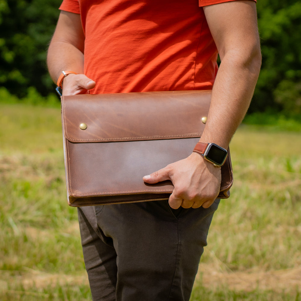
[[43, 95], [53, 84], [46, 67], [47, 45], [61, 0], [0, 0], [0, 83], [24, 96], [29, 86]]

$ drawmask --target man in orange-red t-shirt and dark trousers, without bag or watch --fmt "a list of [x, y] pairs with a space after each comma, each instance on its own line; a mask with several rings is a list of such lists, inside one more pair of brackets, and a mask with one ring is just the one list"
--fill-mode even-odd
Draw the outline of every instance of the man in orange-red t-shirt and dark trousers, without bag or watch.
[[[212, 89], [200, 142], [227, 149], [261, 54], [256, 3], [225, 1], [64, 0], [49, 73], [63, 80], [63, 95]], [[61, 76], [67, 70], [76, 74]], [[78, 210], [93, 300], [189, 300], [219, 203], [220, 168], [191, 150], [150, 173], [147, 183], [172, 181], [168, 202]]]

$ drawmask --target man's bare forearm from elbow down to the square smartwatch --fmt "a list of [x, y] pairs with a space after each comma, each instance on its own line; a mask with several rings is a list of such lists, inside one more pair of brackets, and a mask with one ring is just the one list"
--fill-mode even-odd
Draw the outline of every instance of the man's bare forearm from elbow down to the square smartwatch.
[[240, 59], [235, 54], [229, 51], [222, 58], [200, 142], [214, 142], [227, 148], [250, 105], [261, 65], [260, 48]]

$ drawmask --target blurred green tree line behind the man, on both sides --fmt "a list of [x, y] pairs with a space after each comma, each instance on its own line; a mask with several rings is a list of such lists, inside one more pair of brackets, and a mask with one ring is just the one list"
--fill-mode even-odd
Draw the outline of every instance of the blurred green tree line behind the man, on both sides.
[[[24, 98], [53, 92], [46, 53], [62, 0], [0, 0], [0, 84]], [[262, 70], [249, 114], [301, 114], [301, 2], [258, 0]]]

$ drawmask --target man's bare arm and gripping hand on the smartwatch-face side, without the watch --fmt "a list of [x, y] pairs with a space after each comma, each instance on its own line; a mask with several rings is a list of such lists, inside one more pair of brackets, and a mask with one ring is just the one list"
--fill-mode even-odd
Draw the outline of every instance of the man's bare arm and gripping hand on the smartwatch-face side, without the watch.
[[[200, 142], [227, 149], [250, 105], [261, 66], [256, 4], [231, 1], [203, 9], [221, 64]], [[171, 180], [175, 187], [169, 197], [172, 208], [207, 208], [219, 194], [221, 174], [219, 167], [192, 153], [143, 179], [150, 184]]]

